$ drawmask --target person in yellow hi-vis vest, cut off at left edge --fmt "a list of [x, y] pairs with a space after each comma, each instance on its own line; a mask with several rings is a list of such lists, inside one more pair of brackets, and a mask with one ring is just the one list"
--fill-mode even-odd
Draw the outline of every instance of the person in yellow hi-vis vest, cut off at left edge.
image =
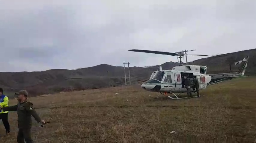
[[[9, 99], [7, 96], [4, 95], [3, 88], [0, 88], [0, 107], [7, 107]], [[10, 133], [10, 124], [8, 122], [8, 111], [0, 110], [0, 120], [2, 119], [4, 128], [6, 130], [6, 135], [8, 136]]]

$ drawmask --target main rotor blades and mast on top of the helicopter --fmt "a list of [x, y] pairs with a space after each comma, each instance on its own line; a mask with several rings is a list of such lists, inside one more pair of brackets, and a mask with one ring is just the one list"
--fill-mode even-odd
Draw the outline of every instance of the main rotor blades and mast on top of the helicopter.
[[[160, 54], [160, 55], [170, 55], [170, 56], [177, 56], [177, 59], [180, 63], [180, 66], [183, 65], [183, 60], [184, 60], [184, 55], [186, 57], [186, 65], [188, 63], [188, 59], [187, 59], [187, 52], [190, 51], [195, 51], [195, 50], [189, 50], [189, 51], [181, 51], [181, 52], [175, 52], [175, 53], [170, 53], [170, 52], [160, 52], [160, 51], [151, 51], [151, 50], [138, 50], [138, 49], [132, 49], [132, 50], [128, 50], [128, 51], [132, 51], [132, 52], [143, 52], [143, 53], [152, 53], [152, 54]], [[209, 56], [209, 55], [195, 55], [192, 54], [193, 56]], [[181, 60], [182, 59], [182, 60]]]

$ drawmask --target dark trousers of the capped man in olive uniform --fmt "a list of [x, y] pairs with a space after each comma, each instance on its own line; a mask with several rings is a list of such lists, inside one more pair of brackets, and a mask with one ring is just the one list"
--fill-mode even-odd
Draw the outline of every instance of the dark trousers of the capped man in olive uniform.
[[31, 138], [31, 128], [20, 128], [18, 135], [17, 135], [17, 142], [18, 143], [33, 143]]

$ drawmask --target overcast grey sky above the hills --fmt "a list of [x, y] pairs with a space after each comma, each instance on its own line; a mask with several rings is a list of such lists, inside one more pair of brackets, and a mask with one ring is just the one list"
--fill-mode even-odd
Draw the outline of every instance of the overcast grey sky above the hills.
[[207, 55], [254, 49], [255, 7], [255, 0], [1, 0], [0, 71], [177, 62], [129, 49]]

